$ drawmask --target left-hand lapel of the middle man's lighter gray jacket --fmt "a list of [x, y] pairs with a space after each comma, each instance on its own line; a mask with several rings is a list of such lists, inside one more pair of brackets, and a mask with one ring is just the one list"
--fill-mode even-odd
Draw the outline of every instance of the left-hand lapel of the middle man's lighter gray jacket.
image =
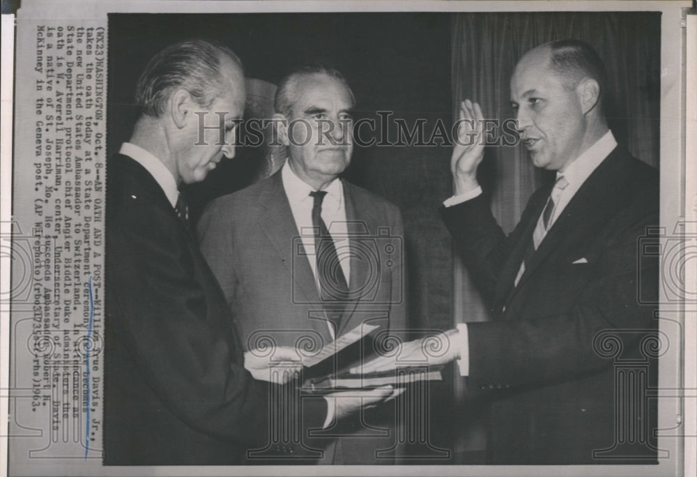
[[[259, 204], [263, 208], [259, 225], [291, 273], [293, 282], [298, 285], [307, 302], [319, 303], [312, 269], [309, 268], [307, 256], [301, 255], [302, 243], [297, 239], [293, 240], [294, 237], [299, 238], [300, 233], [293, 219], [280, 172], [274, 174], [267, 187], [261, 191]], [[298, 250], [293, 250], [294, 248]]]

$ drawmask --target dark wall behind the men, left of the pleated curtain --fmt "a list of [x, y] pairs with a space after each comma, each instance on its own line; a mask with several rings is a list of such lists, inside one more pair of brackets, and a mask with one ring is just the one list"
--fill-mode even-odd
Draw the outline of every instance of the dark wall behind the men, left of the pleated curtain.
[[[392, 111], [410, 125], [426, 119], [427, 135], [438, 119], [450, 128], [451, 20], [439, 13], [109, 15], [107, 148], [116, 153], [130, 137], [137, 114], [135, 83], [147, 61], [187, 38], [229, 46], [247, 77], [275, 84], [306, 63], [335, 66], [357, 98], [355, 119]], [[396, 131], [390, 133], [395, 139]], [[258, 161], [250, 148], [239, 147], [232, 161], [190, 187], [194, 217], [210, 199], [249, 185]], [[452, 328], [451, 243], [436, 211], [450, 195], [449, 162], [447, 145], [356, 146], [345, 173], [397, 204], [404, 215], [409, 319], [415, 329]], [[431, 444], [452, 449], [452, 379], [435, 384], [433, 391]]]

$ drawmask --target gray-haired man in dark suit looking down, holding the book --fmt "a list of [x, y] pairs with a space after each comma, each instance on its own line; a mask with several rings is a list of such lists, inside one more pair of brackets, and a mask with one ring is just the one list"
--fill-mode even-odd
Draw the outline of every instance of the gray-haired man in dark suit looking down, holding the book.
[[[245, 450], [270, 442], [269, 397], [281, 385], [243, 368], [178, 186], [234, 156], [243, 70], [226, 47], [178, 43], [148, 63], [136, 96], [132, 137], [107, 166], [104, 462], [240, 464]], [[293, 356], [277, 349], [275, 358]], [[389, 393], [305, 399], [302, 415], [286, 416], [319, 428], [328, 402], [342, 418]]]

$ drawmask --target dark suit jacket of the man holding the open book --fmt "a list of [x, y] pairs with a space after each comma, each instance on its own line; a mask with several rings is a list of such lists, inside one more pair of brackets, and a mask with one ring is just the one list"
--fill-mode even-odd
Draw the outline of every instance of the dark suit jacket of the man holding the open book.
[[[160, 185], [135, 160], [108, 165], [105, 464], [239, 464], [268, 443], [266, 381], [220, 287]], [[308, 400], [321, 427], [323, 399]]]

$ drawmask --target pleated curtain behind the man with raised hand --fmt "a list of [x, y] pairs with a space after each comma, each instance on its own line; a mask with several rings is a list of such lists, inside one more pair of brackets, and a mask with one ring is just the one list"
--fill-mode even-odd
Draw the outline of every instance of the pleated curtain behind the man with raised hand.
[[[510, 77], [520, 57], [553, 40], [589, 43], [608, 73], [606, 112], [620, 146], [659, 165], [660, 13], [461, 13], [452, 22], [453, 118], [459, 103], [480, 103], [484, 117], [514, 117]], [[506, 233], [518, 222], [533, 191], [553, 174], [535, 169], [523, 146], [487, 147], [478, 171], [491, 210]], [[466, 269], [454, 266], [454, 321], [489, 319]], [[456, 408], [464, 399], [456, 386]], [[463, 404], [465, 405], [465, 404]], [[481, 423], [480, 423], [481, 424]], [[474, 434], [474, 435], [473, 435]], [[457, 451], [482, 446], [483, 431], [463, 429]]]

